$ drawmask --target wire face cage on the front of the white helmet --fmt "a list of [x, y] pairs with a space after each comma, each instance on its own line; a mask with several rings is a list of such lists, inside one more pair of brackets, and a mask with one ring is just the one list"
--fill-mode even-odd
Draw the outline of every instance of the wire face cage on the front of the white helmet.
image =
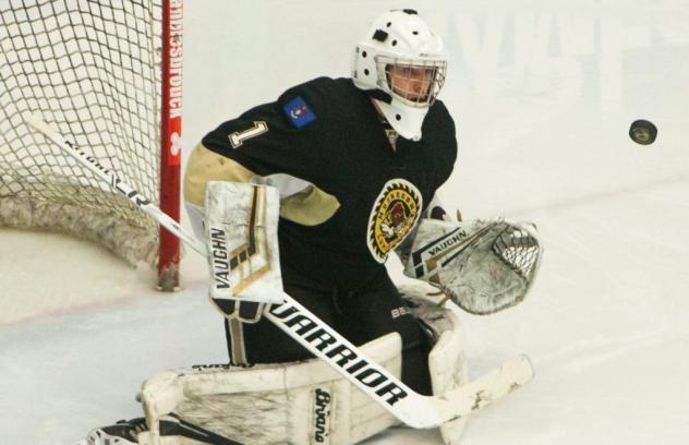
[[411, 60], [378, 55], [375, 61], [378, 86], [410, 107], [433, 105], [445, 83], [445, 60]]

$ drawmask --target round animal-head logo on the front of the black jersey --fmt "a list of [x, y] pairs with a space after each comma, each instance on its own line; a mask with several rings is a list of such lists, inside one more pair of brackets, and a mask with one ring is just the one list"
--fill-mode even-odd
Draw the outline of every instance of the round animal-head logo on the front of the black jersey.
[[421, 216], [421, 192], [409, 181], [392, 179], [385, 183], [368, 218], [367, 244], [378, 263], [398, 246]]

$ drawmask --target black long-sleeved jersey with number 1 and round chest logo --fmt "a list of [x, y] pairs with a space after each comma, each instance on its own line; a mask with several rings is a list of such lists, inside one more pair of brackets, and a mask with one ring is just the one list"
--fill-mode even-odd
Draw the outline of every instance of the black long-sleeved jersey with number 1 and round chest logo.
[[319, 77], [208, 133], [188, 164], [185, 199], [203, 205], [210, 180], [280, 173], [307, 183], [281, 202], [283, 279], [358, 289], [386, 273], [388, 253], [452, 170], [455, 124], [443, 103], [422, 132], [391, 144], [366, 92]]

